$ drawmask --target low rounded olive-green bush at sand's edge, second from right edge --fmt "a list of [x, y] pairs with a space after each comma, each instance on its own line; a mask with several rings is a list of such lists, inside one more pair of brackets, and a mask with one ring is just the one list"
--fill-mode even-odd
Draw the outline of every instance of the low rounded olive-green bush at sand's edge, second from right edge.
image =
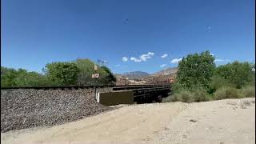
[[234, 87], [222, 87], [214, 93], [214, 99], [226, 99], [226, 98], [242, 98], [238, 93], [238, 89]]

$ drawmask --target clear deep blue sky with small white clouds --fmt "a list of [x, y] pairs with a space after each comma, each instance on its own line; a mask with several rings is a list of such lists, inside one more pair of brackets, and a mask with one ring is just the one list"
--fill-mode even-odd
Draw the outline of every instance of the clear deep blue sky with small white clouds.
[[114, 73], [153, 73], [203, 50], [217, 64], [255, 60], [254, 0], [1, 2], [2, 66], [99, 58]]

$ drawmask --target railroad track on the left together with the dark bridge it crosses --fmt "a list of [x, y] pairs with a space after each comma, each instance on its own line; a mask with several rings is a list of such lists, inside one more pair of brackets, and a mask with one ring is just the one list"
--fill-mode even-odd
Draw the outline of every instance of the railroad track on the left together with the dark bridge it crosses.
[[[169, 93], [172, 93], [169, 85], [128, 85], [128, 86], [42, 86], [42, 87], [5, 87], [2, 90], [8, 89], [36, 89], [36, 90], [78, 90], [92, 89], [96, 100], [103, 105], [116, 104], [132, 104], [161, 102], [162, 98], [166, 98]], [[109, 91], [101, 92], [102, 89]], [[96, 92], [98, 91], [98, 93]], [[104, 91], [104, 90], [103, 90]]]

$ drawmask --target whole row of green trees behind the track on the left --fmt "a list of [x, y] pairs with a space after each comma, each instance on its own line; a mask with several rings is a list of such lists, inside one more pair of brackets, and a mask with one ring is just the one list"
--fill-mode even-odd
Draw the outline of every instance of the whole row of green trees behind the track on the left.
[[[98, 66], [94, 71], [94, 64], [90, 59], [81, 58], [72, 62], [52, 62], [46, 64], [43, 74], [1, 66], [1, 86], [88, 86], [95, 82], [104, 85], [116, 81], [108, 67]], [[100, 77], [91, 78], [94, 73]]]

